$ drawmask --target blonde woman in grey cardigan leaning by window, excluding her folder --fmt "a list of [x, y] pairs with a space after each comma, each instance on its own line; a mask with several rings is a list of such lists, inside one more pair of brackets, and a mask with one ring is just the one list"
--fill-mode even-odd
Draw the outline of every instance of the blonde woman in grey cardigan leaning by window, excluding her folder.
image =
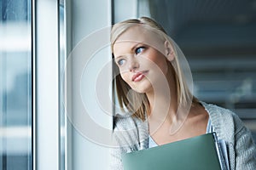
[[125, 112], [114, 116], [114, 170], [123, 169], [127, 152], [213, 131], [226, 144], [231, 170], [256, 169], [251, 133], [236, 114], [191, 94], [179, 61], [183, 53], [160, 25], [147, 17], [125, 20], [113, 26], [111, 44]]

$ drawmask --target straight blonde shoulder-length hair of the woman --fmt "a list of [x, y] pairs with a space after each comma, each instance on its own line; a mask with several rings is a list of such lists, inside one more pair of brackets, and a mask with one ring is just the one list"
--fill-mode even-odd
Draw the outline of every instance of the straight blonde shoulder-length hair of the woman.
[[[147, 29], [148, 31], [154, 31], [158, 36], [160, 36], [161, 39], [170, 42], [170, 44], [173, 46], [176, 45], [175, 42], [173, 42], [172, 39], [168, 37], [164, 28], [157, 22], [148, 17], [141, 17], [139, 19], [125, 20], [113, 25], [111, 31], [112, 54], [113, 45], [116, 40], [120, 35], [122, 35], [132, 26], [143, 26], [143, 28]], [[180, 51], [180, 53], [182, 53], [176, 45], [174, 48], [175, 59], [173, 59], [172, 64], [170, 64], [175, 71], [174, 77], [177, 88], [177, 102], [179, 105], [187, 105], [191, 99], [193, 103], [198, 102], [198, 100], [190, 93], [187, 83], [185, 82], [183, 71], [178, 60], [177, 49]], [[146, 118], [146, 113], [150, 111], [150, 106], [146, 94], [139, 94], [131, 89], [131, 87], [122, 79], [122, 77], [120, 77], [119, 68], [116, 64], [113, 64], [113, 71], [115, 75], [117, 75], [114, 81], [121, 109], [125, 111], [126, 108], [133, 114], [133, 116], [136, 116], [144, 121]]]

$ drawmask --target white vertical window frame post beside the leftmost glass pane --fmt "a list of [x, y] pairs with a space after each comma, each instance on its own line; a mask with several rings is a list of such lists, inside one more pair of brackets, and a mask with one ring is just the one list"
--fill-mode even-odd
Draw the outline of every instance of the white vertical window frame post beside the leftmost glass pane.
[[59, 1], [32, 0], [33, 169], [60, 169]]

